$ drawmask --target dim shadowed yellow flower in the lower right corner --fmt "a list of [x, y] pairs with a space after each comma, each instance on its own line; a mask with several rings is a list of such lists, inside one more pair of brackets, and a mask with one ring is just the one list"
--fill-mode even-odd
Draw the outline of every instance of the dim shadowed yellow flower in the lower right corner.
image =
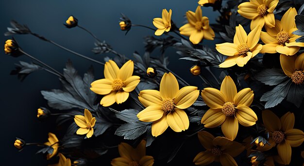
[[284, 165], [288, 165], [291, 160], [291, 147], [298, 147], [304, 141], [304, 133], [299, 129], [294, 129], [294, 114], [287, 112], [279, 119], [270, 110], [262, 112], [262, 118], [266, 129], [269, 132], [270, 148], [275, 145]]

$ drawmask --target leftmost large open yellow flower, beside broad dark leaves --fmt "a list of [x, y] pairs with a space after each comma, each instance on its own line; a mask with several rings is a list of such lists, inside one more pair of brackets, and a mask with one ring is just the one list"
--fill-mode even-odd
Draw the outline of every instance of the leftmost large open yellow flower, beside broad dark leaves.
[[140, 81], [140, 77], [132, 75], [134, 62], [127, 61], [120, 69], [113, 60], [105, 62], [104, 79], [99, 79], [91, 83], [91, 91], [105, 95], [100, 104], [111, 106], [115, 102], [121, 104], [129, 97], [129, 92], [133, 91]]

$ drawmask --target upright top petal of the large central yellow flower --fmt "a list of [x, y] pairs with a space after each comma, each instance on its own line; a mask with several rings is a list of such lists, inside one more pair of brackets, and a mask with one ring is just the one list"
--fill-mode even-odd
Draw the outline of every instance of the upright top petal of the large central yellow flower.
[[179, 86], [177, 79], [175, 78], [172, 73], [165, 73], [162, 77], [162, 80], [160, 81], [160, 87], [159, 87], [160, 95], [163, 99], [171, 98], [173, 99], [175, 95], [179, 91]]

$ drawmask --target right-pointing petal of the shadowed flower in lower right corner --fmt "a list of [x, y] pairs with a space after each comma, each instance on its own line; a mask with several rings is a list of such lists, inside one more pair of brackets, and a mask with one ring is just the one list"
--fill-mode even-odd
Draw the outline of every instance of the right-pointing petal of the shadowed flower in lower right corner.
[[288, 129], [285, 132], [286, 141], [291, 147], [298, 147], [304, 141], [304, 133], [299, 129]]

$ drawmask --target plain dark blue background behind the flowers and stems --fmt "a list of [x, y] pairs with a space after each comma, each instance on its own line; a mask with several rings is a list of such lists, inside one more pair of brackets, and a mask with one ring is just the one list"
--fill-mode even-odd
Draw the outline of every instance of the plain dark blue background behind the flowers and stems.
[[[172, 20], [178, 27], [184, 25], [186, 11], [195, 11], [198, 0], [1, 0], [0, 1], [0, 33], [10, 27], [10, 20], [15, 19], [21, 24], [27, 24], [30, 29], [76, 52], [96, 60], [103, 61], [105, 56], [114, 57], [113, 54], [94, 55], [94, 39], [79, 28], [67, 29], [63, 26], [69, 15], [75, 15], [79, 24], [95, 33], [101, 40], [112, 45], [119, 53], [132, 57], [136, 50], [144, 53], [143, 37], [153, 35], [154, 31], [133, 27], [127, 36], [118, 26], [120, 13], [127, 15], [134, 24], [153, 27], [152, 19], [161, 17], [164, 8], [172, 9]], [[212, 8], [203, 8], [203, 15], [215, 23], [217, 12]], [[75, 68], [81, 75], [93, 64], [96, 78], [103, 77], [103, 66], [94, 62], [81, 59], [54, 45], [43, 42], [31, 35], [15, 36], [24, 51], [46, 62], [58, 71], [62, 71], [68, 59], [73, 61]], [[10, 39], [2, 35], [4, 41]], [[210, 45], [210, 42], [207, 41]], [[211, 42], [212, 45], [214, 42]], [[23, 137], [29, 142], [45, 142], [48, 132], [55, 132], [53, 121], [39, 122], [36, 110], [39, 106], [46, 106], [46, 101], [40, 94], [41, 90], [59, 89], [60, 83], [56, 76], [38, 71], [29, 75], [24, 82], [17, 80], [16, 75], [9, 75], [15, 68], [14, 63], [19, 60], [29, 62], [30, 59], [22, 56], [18, 59], [10, 57], [1, 51], [0, 60], [0, 117], [1, 117], [1, 155], [0, 165], [17, 166], [46, 165], [47, 161], [42, 155], [34, 155], [37, 147], [26, 147], [17, 152], [14, 148], [16, 136]], [[158, 50], [154, 51], [158, 56]], [[169, 56], [169, 68], [184, 77], [192, 85], [200, 86], [201, 81], [189, 73], [191, 63], [178, 60], [179, 55], [170, 48], [166, 55]], [[194, 156], [193, 156], [194, 157]], [[191, 159], [192, 160], [192, 159]], [[105, 166], [108, 164], [104, 164]]]

